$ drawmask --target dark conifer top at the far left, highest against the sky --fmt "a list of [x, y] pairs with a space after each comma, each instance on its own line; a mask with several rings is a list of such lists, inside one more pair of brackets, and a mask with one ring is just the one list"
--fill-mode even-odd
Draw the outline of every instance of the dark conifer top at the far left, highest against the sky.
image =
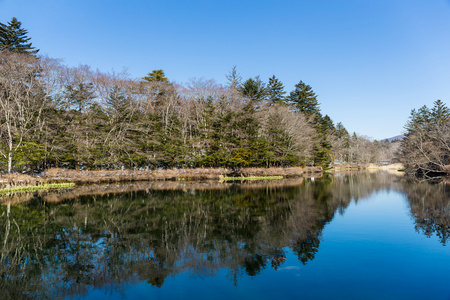
[[7, 24], [0, 23], [0, 50], [11, 52], [36, 54], [38, 49], [31, 46], [28, 31], [21, 28], [22, 23], [15, 17]]

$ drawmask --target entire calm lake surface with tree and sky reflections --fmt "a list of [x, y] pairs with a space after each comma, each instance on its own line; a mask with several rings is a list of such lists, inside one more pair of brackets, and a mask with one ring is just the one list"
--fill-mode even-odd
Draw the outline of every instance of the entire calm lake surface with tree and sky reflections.
[[361, 173], [1, 201], [1, 299], [450, 299], [443, 183]]

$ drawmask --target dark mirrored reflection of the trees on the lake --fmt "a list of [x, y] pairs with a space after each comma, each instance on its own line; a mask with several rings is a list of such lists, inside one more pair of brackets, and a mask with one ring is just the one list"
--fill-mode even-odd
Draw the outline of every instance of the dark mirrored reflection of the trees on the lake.
[[335, 214], [380, 190], [405, 193], [416, 229], [437, 234], [445, 245], [448, 186], [407, 183], [387, 173], [6, 196], [0, 290], [10, 299], [80, 297], [91, 288], [120, 291], [140, 281], [161, 287], [168, 276], [206, 277], [223, 269], [237, 285], [244, 276], [281, 268], [287, 250], [307, 264]]

